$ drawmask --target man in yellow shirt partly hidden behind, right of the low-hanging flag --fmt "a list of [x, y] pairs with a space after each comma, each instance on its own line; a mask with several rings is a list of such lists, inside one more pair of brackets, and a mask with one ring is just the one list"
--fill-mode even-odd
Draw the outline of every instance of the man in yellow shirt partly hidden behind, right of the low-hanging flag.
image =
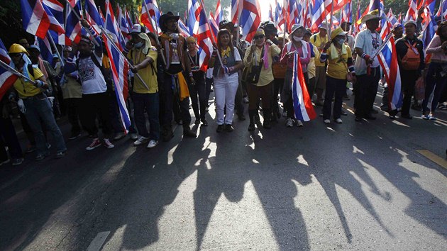
[[[319, 26], [319, 33], [311, 36], [310, 42], [318, 48], [320, 54], [323, 51], [324, 45], [328, 42], [328, 27], [326, 22]], [[319, 57], [315, 57], [315, 89], [316, 89], [316, 105], [323, 105], [323, 91], [326, 86], [326, 63], [320, 62]]]

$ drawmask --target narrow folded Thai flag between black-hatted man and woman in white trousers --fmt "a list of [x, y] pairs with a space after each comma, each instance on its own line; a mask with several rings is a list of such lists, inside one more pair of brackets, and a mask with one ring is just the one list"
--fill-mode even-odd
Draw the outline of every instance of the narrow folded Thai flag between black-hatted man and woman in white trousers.
[[197, 33], [194, 34], [194, 37], [197, 38], [197, 45], [199, 45], [200, 69], [206, 72], [208, 60], [213, 50], [213, 44], [211, 43], [211, 30], [209, 30], [208, 18], [206, 18], [204, 8], [201, 8], [199, 13], [199, 28], [197, 29]]

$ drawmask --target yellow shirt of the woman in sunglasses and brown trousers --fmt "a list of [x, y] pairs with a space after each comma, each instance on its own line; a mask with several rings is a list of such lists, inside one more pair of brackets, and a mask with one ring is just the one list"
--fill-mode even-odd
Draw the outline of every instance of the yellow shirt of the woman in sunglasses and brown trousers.
[[[260, 56], [261, 53], [263, 52], [262, 49], [258, 48], [256, 45], [251, 45], [251, 46], [255, 46], [255, 57], [252, 60], [256, 60], [256, 62], [258, 63], [260, 61]], [[251, 47], [250, 46], [250, 47]], [[247, 52], [245, 52], [245, 57], [243, 58], [243, 65], [245, 65], [245, 67], [250, 67], [250, 61], [248, 60], [248, 51], [251, 50], [251, 48], [247, 49]], [[270, 47], [268, 48], [268, 67], [267, 69], [265, 69], [265, 66], [263, 64], [261, 71], [260, 71], [260, 75], [259, 75], [259, 82], [258, 84], [256, 84], [258, 87], [263, 87], [267, 84], [270, 84], [273, 81], [273, 72], [272, 72], [272, 57], [276, 57], [277, 55], [280, 55], [281, 53], [281, 49], [275, 45], [272, 44], [270, 45]], [[253, 64], [255, 62], [252, 62]]]

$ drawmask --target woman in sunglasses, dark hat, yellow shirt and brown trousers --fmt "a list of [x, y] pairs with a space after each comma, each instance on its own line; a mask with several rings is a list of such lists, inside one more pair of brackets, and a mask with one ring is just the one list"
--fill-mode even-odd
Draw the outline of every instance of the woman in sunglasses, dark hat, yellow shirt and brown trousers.
[[[281, 49], [277, 47], [270, 39], [265, 40], [265, 33], [263, 29], [256, 30], [253, 38], [253, 45], [247, 49], [243, 64], [245, 67], [258, 66], [259, 78], [258, 82], [251, 82], [247, 84], [248, 92], [248, 114], [250, 115], [250, 125], [248, 130], [255, 130], [255, 116], [258, 113], [259, 99], [263, 99], [263, 113], [264, 123], [263, 127], [266, 129], [272, 128], [270, 124], [270, 104], [272, 99], [272, 57], [280, 55]], [[249, 68], [250, 69], [250, 68]], [[253, 69], [253, 68], [252, 68]]]

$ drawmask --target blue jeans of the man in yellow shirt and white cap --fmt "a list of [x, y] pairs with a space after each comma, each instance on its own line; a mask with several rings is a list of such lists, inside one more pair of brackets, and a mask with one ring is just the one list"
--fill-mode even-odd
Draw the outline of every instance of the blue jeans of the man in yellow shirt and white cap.
[[[135, 124], [138, 134], [150, 140], [158, 140], [160, 138], [160, 121], [158, 121], [159, 97], [158, 92], [155, 94], [132, 94], [133, 108], [135, 115]], [[149, 131], [146, 128], [146, 119], [144, 111], [148, 112]]]

